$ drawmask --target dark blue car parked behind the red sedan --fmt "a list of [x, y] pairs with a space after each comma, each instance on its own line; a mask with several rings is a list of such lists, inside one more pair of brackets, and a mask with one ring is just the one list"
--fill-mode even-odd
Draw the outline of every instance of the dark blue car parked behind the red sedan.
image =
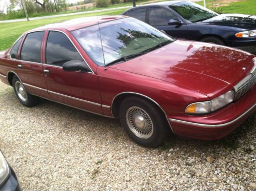
[[256, 53], [256, 16], [217, 14], [188, 1], [170, 1], [131, 8], [132, 16], [176, 38], [204, 41]]

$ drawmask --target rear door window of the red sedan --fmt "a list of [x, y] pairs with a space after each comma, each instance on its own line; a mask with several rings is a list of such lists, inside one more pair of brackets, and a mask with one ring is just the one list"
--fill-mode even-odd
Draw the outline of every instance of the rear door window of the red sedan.
[[45, 31], [29, 33], [23, 43], [21, 59], [40, 62], [41, 43]]

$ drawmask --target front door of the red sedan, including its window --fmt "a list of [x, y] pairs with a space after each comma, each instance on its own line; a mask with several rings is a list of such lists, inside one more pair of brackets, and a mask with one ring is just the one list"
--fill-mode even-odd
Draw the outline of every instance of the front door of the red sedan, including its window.
[[72, 107], [102, 114], [97, 75], [89, 72], [67, 72], [66, 61], [80, 60], [87, 64], [70, 38], [62, 31], [47, 31], [44, 77], [50, 98]]

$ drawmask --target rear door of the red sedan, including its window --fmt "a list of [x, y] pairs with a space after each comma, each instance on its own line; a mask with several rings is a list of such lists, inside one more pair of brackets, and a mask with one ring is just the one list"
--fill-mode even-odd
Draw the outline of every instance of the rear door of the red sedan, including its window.
[[41, 59], [42, 40], [45, 31], [36, 31], [28, 33], [22, 46], [16, 54], [17, 47], [11, 50], [12, 59], [16, 59], [17, 74], [21, 78], [26, 90], [29, 93], [41, 97], [49, 98], [46, 83], [43, 74], [43, 65]]

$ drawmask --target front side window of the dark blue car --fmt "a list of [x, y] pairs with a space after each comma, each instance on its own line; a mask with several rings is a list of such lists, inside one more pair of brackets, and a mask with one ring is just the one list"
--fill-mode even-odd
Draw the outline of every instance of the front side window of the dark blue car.
[[175, 18], [177, 16], [165, 8], [149, 8], [150, 25], [168, 25], [169, 20]]

